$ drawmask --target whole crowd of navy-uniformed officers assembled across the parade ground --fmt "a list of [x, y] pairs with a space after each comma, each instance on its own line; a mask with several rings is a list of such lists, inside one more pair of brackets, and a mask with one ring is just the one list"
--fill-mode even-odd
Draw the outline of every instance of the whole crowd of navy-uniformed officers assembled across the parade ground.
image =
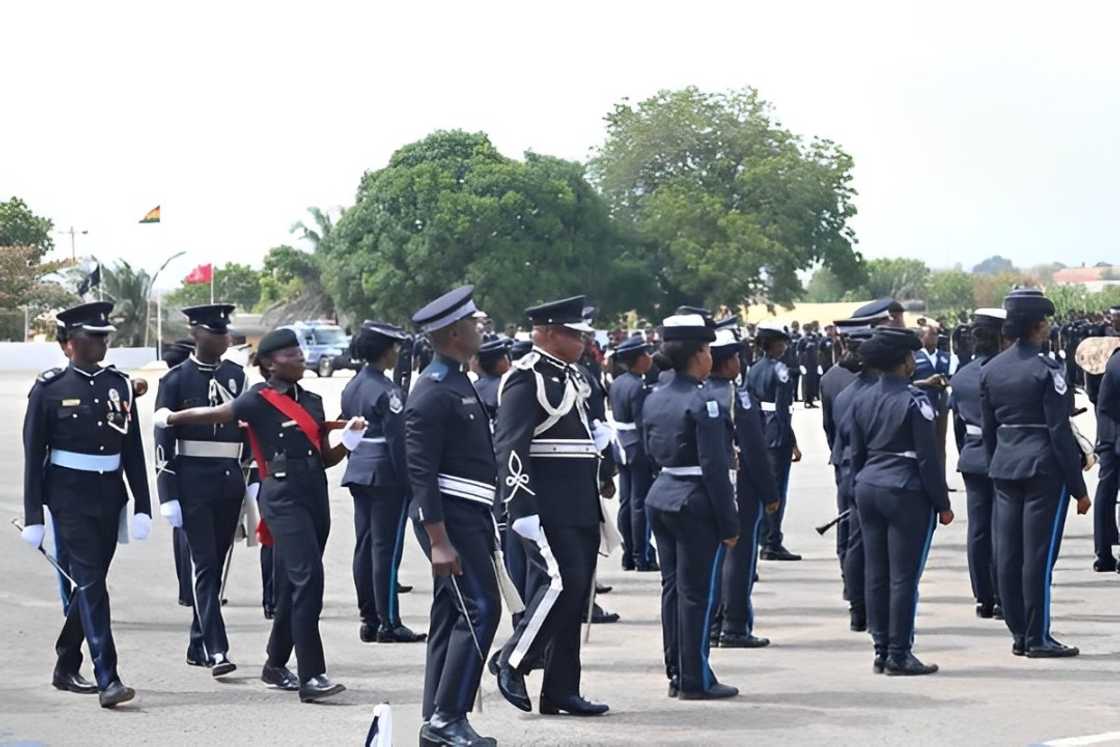
[[[136, 407], [144, 387], [101, 365], [111, 312], [96, 302], [58, 315], [69, 363], [44, 372], [29, 396], [22, 529], [63, 590], [53, 683], [97, 693], [106, 708], [134, 692], [116, 669], [105, 578], [116, 543], [151, 527]], [[1037, 290], [1012, 291], [952, 330], [921, 320], [916, 333], [892, 299], [823, 333], [815, 323], [744, 328], [685, 306], [656, 330], [613, 335], [604, 355], [584, 297], [526, 309], [531, 333], [515, 339], [494, 335], [463, 287], [413, 315], [416, 336], [362, 325], [351, 352], [365, 365], [333, 419], [300, 384], [295, 332], [261, 339], [263, 381], [249, 385], [223, 358], [233, 307], [184, 312], [192, 339], [165, 355], [155, 471], [160, 515], [175, 529], [180, 603], [193, 610], [187, 664], [216, 678], [236, 669], [222, 596], [231, 547], [244, 536], [262, 545], [272, 626], [261, 679], [306, 702], [345, 689], [327, 674], [318, 622], [326, 469], [346, 460], [360, 636], [427, 642], [421, 745], [496, 744], [467, 720], [486, 670], [521, 710], [533, 709], [525, 680], [540, 672], [540, 713], [607, 712], [581, 694], [581, 625], [617, 620], [596, 604], [609, 590], [596, 569], [619, 548], [624, 570], [661, 573], [669, 695], [736, 695], [709, 651], [766, 646], [754, 632], [757, 562], [801, 559], [783, 533], [801, 459], [799, 399], [821, 402], [842, 594], [851, 629], [870, 633], [876, 673], [937, 669], [913, 653], [914, 620], [934, 530], [954, 517], [950, 424], [977, 615], [1005, 620], [1015, 655], [1077, 653], [1051, 635], [1051, 572], [1068, 505], [1090, 508], [1082, 473], [1096, 459], [1094, 568], [1116, 570], [1120, 356], [1084, 382], [1098, 409], [1095, 449], [1072, 424], [1081, 372], [1068, 367], [1073, 340], [1114, 328], [1052, 325], [1054, 306]], [[433, 575], [427, 633], [403, 625], [398, 601], [410, 523]], [[492, 651], [503, 607], [513, 635]], [[83, 639], [94, 682], [80, 673]]]

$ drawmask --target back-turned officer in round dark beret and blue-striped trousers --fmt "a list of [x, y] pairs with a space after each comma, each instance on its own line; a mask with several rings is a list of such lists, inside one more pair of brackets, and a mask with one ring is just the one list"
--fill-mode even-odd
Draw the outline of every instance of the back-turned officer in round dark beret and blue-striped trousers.
[[934, 443], [936, 413], [909, 385], [918, 338], [880, 328], [860, 345], [879, 381], [852, 404], [851, 474], [867, 562], [867, 620], [874, 671], [921, 675], [937, 671], [913, 654], [917, 585], [933, 530], [953, 521]]

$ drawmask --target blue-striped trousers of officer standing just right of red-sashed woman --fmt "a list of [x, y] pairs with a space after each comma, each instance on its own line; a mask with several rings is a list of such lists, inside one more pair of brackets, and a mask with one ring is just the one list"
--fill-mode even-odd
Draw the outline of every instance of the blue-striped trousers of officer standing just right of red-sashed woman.
[[404, 552], [408, 496], [395, 488], [351, 487], [354, 496], [354, 588], [362, 622], [401, 624], [396, 573]]

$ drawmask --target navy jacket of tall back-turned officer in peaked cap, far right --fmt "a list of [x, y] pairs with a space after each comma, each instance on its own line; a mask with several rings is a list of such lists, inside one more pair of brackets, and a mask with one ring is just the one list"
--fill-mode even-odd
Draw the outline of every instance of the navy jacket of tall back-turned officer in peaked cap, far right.
[[1068, 383], [1062, 365], [1037, 346], [1018, 342], [980, 373], [983, 440], [993, 479], [1062, 478], [1073, 496], [1086, 495], [1081, 449], [1070, 428]]

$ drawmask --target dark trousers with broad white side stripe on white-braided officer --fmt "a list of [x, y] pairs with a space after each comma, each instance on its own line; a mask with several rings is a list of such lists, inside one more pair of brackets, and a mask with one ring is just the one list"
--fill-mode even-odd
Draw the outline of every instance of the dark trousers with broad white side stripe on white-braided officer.
[[552, 700], [579, 694], [580, 625], [599, 551], [599, 527], [544, 526], [526, 550], [530, 566], [548, 577], [525, 600], [525, 614], [502, 646], [502, 664], [528, 674], [544, 662], [541, 694]]

